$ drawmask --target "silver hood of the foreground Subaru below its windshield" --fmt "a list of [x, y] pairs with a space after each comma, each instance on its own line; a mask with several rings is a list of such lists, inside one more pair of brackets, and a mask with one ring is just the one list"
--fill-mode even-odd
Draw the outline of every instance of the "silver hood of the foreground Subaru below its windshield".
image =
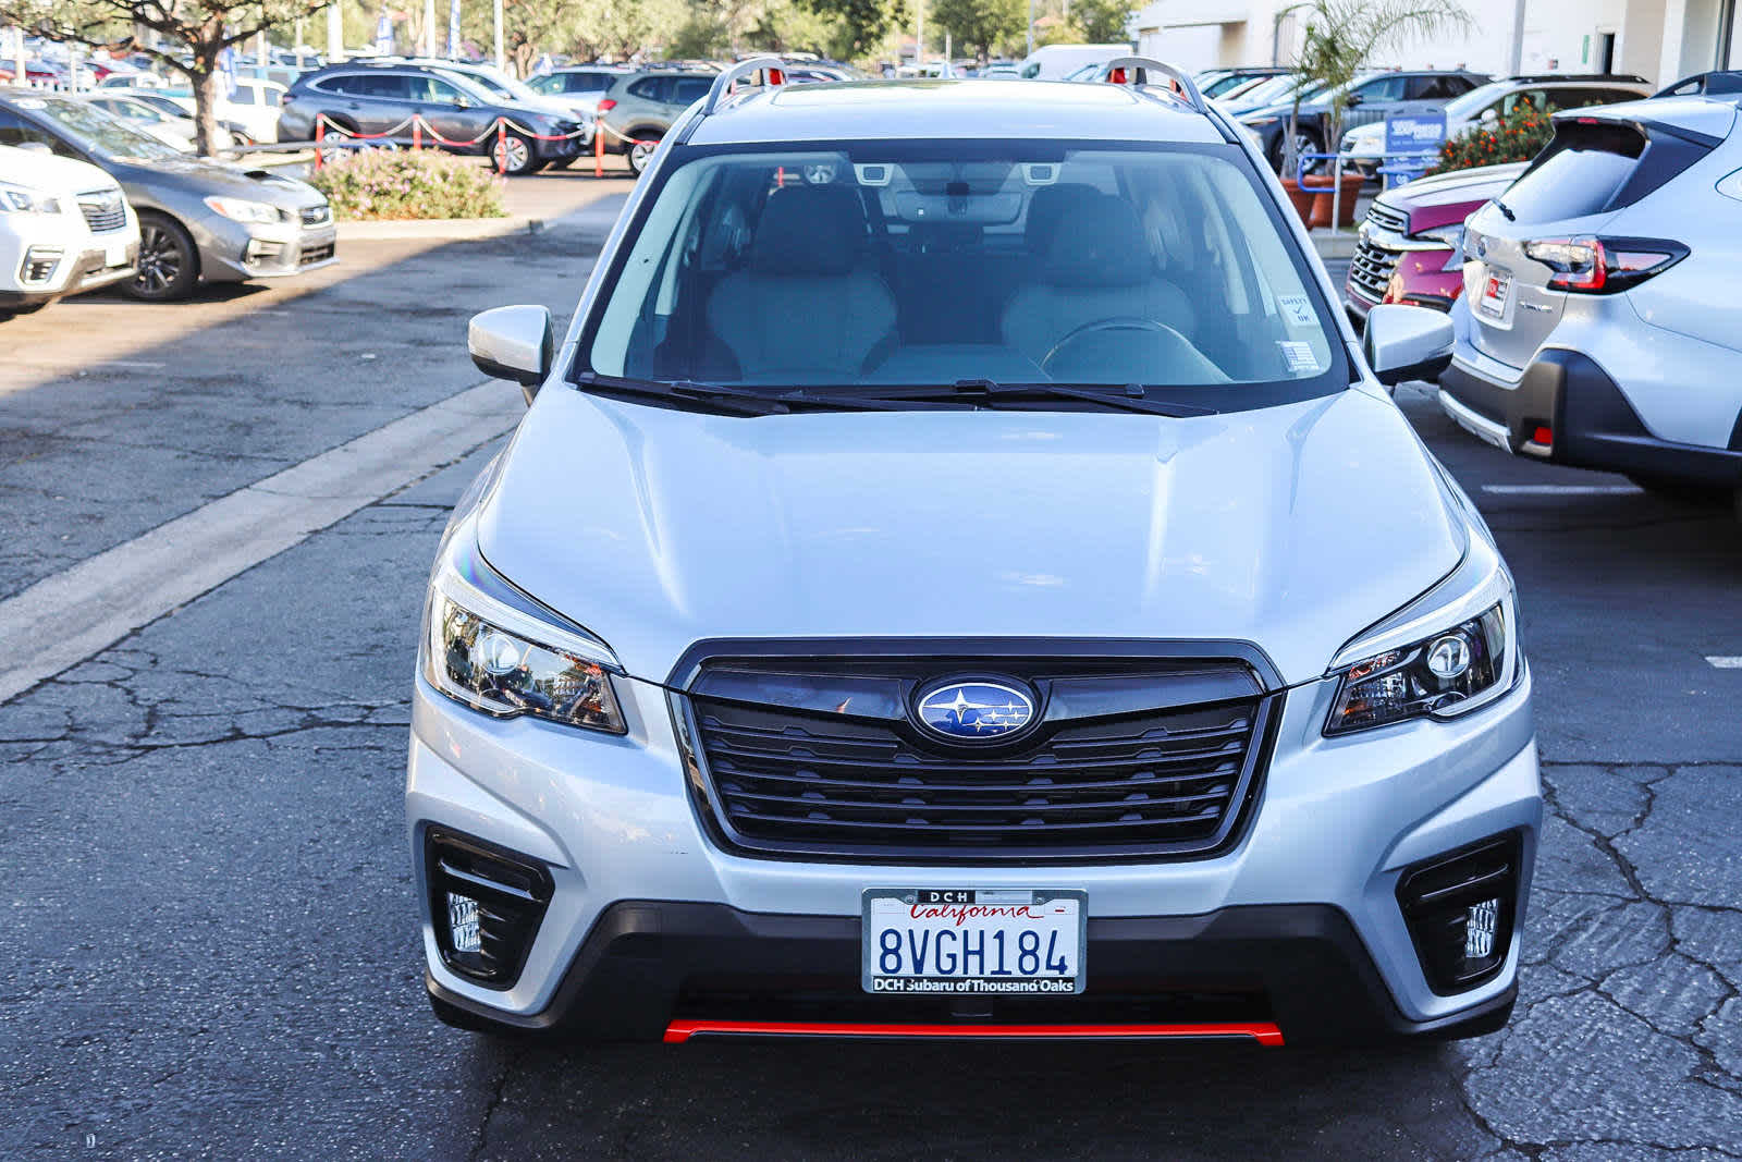
[[704, 416], [550, 387], [484, 557], [665, 681], [711, 638], [1249, 641], [1296, 683], [1458, 563], [1467, 526], [1361, 390], [1129, 413]]

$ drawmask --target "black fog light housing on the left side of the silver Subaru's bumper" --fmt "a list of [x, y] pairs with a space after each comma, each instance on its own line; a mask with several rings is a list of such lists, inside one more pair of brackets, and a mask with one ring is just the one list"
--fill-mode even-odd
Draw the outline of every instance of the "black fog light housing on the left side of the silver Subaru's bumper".
[[550, 902], [544, 864], [439, 828], [423, 841], [430, 927], [453, 972], [512, 988]]

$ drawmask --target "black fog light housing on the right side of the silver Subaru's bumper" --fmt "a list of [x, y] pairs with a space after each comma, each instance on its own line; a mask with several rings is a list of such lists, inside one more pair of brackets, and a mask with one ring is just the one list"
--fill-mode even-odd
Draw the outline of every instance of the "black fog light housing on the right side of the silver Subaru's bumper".
[[1397, 880], [1421, 976], [1441, 996], [1472, 990], [1505, 965], [1521, 857], [1510, 833], [1415, 864]]

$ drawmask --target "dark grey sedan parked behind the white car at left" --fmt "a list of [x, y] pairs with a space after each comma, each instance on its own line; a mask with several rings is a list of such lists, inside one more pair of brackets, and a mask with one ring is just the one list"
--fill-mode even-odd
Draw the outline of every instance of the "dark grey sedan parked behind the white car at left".
[[0, 91], [0, 145], [26, 141], [120, 183], [139, 220], [139, 270], [127, 284], [136, 298], [186, 298], [200, 282], [334, 261], [333, 211], [294, 178], [185, 157], [78, 98]]

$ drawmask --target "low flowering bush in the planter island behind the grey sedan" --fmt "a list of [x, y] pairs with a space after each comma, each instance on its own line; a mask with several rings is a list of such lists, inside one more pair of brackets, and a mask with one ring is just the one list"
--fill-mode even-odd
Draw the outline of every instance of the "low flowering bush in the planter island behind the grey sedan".
[[439, 150], [359, 150], [312, 181], [341, 221], [507, 218], [503, 181], [476, 157]]

